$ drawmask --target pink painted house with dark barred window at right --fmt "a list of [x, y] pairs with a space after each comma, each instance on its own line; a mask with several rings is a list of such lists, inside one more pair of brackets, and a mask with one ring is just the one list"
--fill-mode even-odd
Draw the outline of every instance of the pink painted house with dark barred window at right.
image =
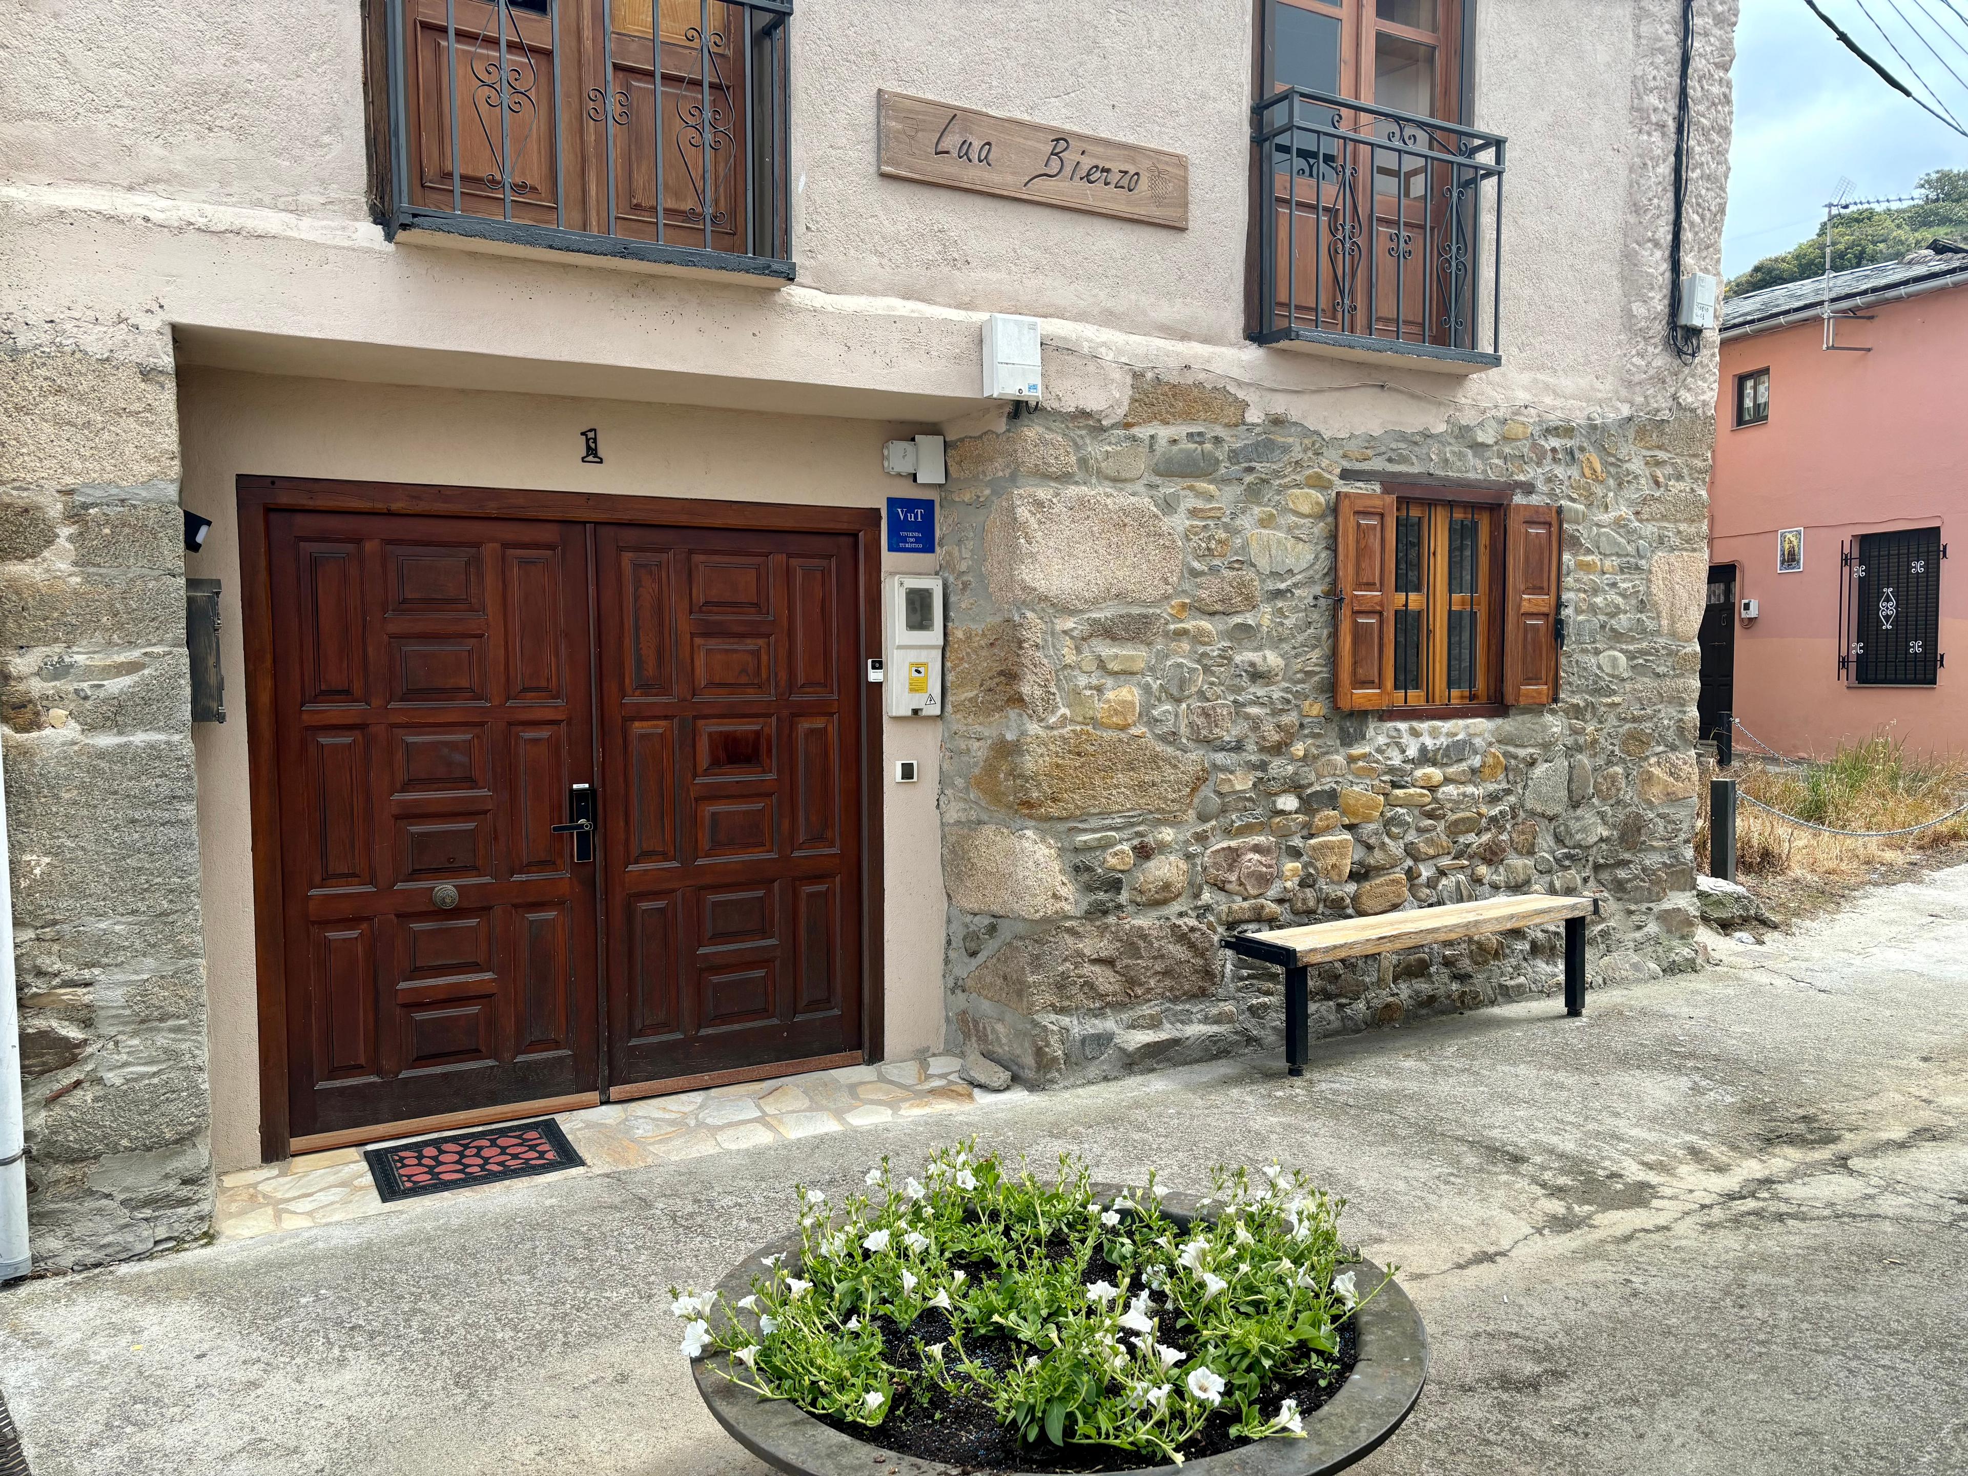
[[[1968, 744], [1968, 248], [1732, 297], [1702, 736]], [[1948, 669], [1948, 655], [1954, 669]]]

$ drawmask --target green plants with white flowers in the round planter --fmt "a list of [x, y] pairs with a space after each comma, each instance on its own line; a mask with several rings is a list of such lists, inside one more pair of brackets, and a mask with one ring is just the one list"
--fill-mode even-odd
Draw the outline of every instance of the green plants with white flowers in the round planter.
[[[941, 1387], [986, 1399], [1027, 1443], [1173, 1462], [1220, 1409], [1240, 1439], [1303, 1435], [1297, 1403], [1267, 1411], [1265, 1391], [1336, 1382], [1340, 1326], [1380, 1291], [1340, 1271], [1358, 1260], [1340, 1244], [1342, 1200], [1277, 1165], [1218, 1169], [1212, 1218], [1187, 1228], [1163, 1214], [1155, 1175], [1102, 1202], [1073, 1157], [1041, 1181], [974, 1139], [899, 1185], [884, 1159], [838, 1208], [797, 1193], [797, 1275], [768, 1258], [736, 1307], [671, 1287], [671, 1311], [687, 1356], [728, 1352], [726, 1378], [856, 1425]], [[949, 1332], [905, 1334], [915, 1356], [892, 1362], [884, 1326], [913, 1330], [929, 1309]], [[1000, 1338], [1012, 1358], [968, 1350]]]

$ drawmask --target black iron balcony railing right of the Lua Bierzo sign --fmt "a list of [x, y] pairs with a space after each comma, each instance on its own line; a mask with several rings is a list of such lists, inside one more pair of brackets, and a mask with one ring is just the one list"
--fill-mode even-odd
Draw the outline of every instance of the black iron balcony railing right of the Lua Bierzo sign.
[[1254, 114], [1250, 337], [1502, 362], [1504, 140], [1307, 89]]

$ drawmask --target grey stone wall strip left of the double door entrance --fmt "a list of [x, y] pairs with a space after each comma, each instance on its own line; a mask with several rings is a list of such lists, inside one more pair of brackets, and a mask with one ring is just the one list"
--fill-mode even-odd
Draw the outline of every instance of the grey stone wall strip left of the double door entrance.
[[0, 742], [37, 1269], [209, 1224], [177, 474], [161, 333], [0, 331]]

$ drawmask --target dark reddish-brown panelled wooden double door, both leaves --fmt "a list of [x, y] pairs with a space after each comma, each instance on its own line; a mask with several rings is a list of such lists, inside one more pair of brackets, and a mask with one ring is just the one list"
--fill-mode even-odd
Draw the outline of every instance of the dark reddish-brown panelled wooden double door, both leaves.
[[860, 1059], [862, 557], [266, 514], [297, 1145]]

